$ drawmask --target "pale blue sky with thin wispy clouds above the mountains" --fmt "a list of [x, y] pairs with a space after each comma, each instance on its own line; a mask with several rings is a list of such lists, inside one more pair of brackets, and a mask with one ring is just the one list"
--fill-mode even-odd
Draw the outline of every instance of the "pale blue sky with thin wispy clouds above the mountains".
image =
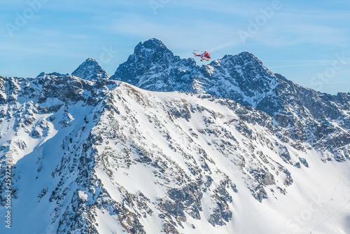
[[247, 50], [322, 92], [350, 92], [348, 0], [2, 0], [0, 76], [71, 73], [88, 57], [109, 75], [153, 37], [181, 57]]

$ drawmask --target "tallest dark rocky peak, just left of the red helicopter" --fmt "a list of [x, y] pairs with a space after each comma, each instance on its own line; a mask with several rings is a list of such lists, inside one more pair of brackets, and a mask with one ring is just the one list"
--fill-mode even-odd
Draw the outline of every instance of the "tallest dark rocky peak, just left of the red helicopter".
[[162, 41], [140, 42], [111, 79], [152, 91], [187, 92], [199, 67], [195, 60], [174, 56]]

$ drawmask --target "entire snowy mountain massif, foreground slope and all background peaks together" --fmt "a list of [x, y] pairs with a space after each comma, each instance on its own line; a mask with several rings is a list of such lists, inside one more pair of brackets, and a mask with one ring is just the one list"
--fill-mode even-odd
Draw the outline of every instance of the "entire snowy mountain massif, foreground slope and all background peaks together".
[[350, 233], [349, 94], [158, 39], [90, 61], [0, 77], [0, 233]]

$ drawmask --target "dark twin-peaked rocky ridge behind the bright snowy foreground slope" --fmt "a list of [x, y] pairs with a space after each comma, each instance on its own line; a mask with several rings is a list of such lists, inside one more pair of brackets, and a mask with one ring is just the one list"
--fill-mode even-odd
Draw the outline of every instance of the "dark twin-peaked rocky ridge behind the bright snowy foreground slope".
[[[111, 79], [158, 92], [191, 92], [232, 99], [274, 117], [283, 126], [283, 135], [297, 142], [308, 142], [315, 149], [349, 159], [350, 93], [328, 95], [296, 85], [280, 74], [273, 74], [248, 52], [225, 55], [202, 67], [193, 61], [183, 76], [169, 73], [180, 69], [172, 52], [158, 39], [139, 43], [127, 62]], [[176, 60], [177, 61], [177, 60]], [[194, 63], [194, 64], [193, 64]], [[165, 82], [166, 81], [166, 82]]]

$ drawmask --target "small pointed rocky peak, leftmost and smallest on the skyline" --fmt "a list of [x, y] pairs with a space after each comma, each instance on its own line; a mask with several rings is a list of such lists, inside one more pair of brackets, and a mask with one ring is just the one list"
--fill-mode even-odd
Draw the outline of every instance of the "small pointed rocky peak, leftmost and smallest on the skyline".
[[88, 58], [80, 64], [80, 66], [73, 71], [73, 76], [78, 76], [79, 78], [83, 78], [87, 81], [97, 81], [99, 79], [108, 79], [109, 75], [102, 69], [101, 66], [93, 60], [92, 58]]

